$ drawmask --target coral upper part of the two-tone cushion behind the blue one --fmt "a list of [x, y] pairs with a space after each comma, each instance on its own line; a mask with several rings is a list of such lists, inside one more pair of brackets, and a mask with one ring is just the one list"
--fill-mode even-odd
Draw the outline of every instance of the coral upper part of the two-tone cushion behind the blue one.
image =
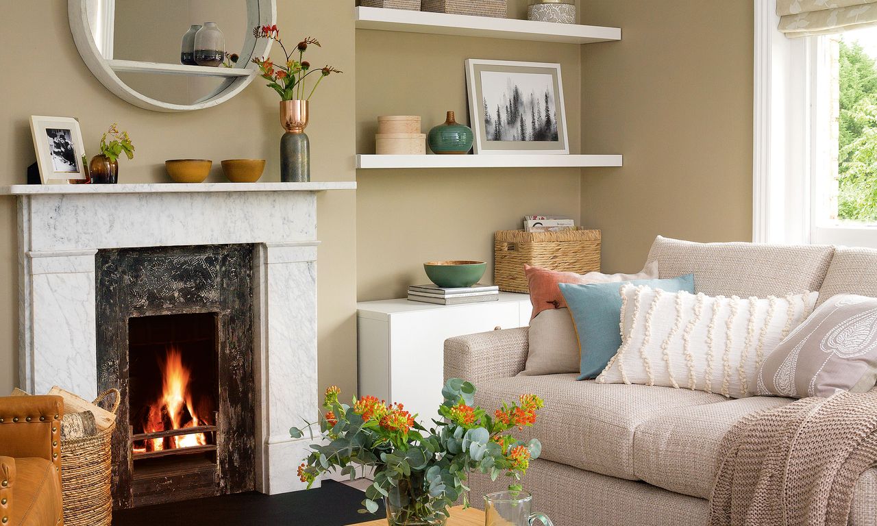
[[533, 304], [533, 319], [545, 309], [564, 309], [567, 301], [560, 294], [559, 283], [588, 285], [590, 283], [610, 283], [615, 281], [651, 280], [658, 277], [658, 262], [652, 261], [638, 274], [575, 274], [574, 272], [555, 272], [547, 268], [524, 265], [524, 274], [530, 284], [530, 301]]

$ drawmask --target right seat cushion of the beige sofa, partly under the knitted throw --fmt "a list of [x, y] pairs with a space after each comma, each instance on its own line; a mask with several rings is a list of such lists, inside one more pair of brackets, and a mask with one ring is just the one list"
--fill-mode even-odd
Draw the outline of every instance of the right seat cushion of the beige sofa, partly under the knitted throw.
[[794, 400], [752, 396], [673, 409], [655, 416], [637, 427], [633, 473], [652, 486], [707, 499], [716, 478], [724, 434], [743, 416], [789, 402]]

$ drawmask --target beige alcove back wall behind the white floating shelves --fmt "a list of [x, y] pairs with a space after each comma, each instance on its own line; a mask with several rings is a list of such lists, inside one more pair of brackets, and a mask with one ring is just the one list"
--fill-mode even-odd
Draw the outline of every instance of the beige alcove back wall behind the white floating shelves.
[[[510, 14], [525, 18], [525, 0]], [[356, 33], [357, 152], [374, 153], [379, 115], [419, 115], [423, 132], [454, 110], [468, 124], [466, 59], [560, 62], [572, 153], [580, 144], [580, 47], [403, 32]], [[526, 214], [579, 217], [577, 168], [360, 170], [357, 277], [360, 301], [401, 297], [428, 282], [434, 259], [488, 262], [493, 233], [520, 228]]]

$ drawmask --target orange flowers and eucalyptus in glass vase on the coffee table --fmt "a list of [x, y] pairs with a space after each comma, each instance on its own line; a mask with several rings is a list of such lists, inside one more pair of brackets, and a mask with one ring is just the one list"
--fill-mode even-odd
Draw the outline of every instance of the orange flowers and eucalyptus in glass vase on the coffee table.
[[[426, 430], [402, 404], [363, 396], [347, 405], [339, 402], [339, 388], [329, 387], [324, 416], [305, 427], [318, 425], [324, 444], [310, 446], [313, 452], [298, 467], [298, 475], [310, 487], [317, 476], [334, 469], [353, 479], [357, 467], [363, 473], [374, 468], [360, 513], [374, 513], [383, 498], [389, 523], [400, 526], [442, 524], [460, 496], [467, 506], [465, 483], [473, 471], [492, 480], [504, 473], [513, 479], [510, 490], [521, 491], [519, 480], [542, 445], [535, 438], [521, 442], [510, 431], [531, 426], [543, 402], [536, 395], [521, 395], [490, 416], [474, 406], [474, 393], [471, 383], [448, 380], [442, 389], [445, 402], [439, 406], [444, 419]], [[303, 437], [298, 428], [289, 433]]]

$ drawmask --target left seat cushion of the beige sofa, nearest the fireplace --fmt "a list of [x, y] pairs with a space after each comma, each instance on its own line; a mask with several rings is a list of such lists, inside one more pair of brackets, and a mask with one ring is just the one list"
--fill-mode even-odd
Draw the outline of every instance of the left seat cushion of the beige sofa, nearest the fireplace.
[[532, 428], [516, 437], [542, 442], [542, 458], [621, 479], [638, 480], [634, 438], [639, 425], [676, 410], [715, 405], [722, 395], [672, 387], [600, 385], [575, 374], [515, 376], [477, 385], [475, 402], [492, 410], [535, 394], [545, 400]]

